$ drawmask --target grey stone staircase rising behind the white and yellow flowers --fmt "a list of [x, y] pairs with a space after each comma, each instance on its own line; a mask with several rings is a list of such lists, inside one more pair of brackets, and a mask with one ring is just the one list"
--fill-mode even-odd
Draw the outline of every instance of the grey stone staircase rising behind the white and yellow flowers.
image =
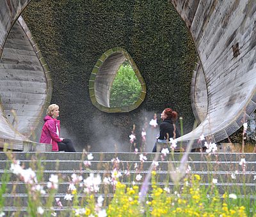
[[[55, 197], [60, 198], [63, 207], [60, 209], [58, 206], [54, 206], [56, 213], [61, 213], [64, 216], [70, 213], [70, 207], [68, 206], [67, 200], [64, 197], [68, 191], [72, 174], [77, 174], [86, 178], [92, 172], [94, 174], [100, 174], [102, 177], [111, 177], [111, 171], [114, 168], [114, 164], [118, 165], [122, 177], [120, 181], [131, 185], [132, 181], [135, 180], [137, 174], [141, 174], [141, 181], [136, 181], [138, 186], [143, 183], [143, 178], [148, 174], [148, 169], [152, 165], [152, 161], [156, 160], [157, 154], [152, 153], [92, 153], [93, 160], [90, 160], [90, 167], [84, 166], [84, 160], [87, 160], [87, 156], [84, 153], [24, 153], [24, 152], [13, 152], [12, 157], [15, 160], [20, 160], [20, 165], [24, 168], [31, 167], [36, 170], [36, 165], [44, 167], [44, 174], [42, 181], [38, 183], [46, 186], [47, 181], [51, 174], [58, 174], [61, 181], [58, 188], [58, 193]], [[146, 156], [147, 160], [141, 162], [140, 154]], [[157, 174], [159, 177], [157, 182], [159, 186], [165, 186], [166, 184], [170, 189], [175, 187], [170, 174], [175, 172], [170, 171], [170, 165], [174, 168], [179, 167], [182, 153], [167, 154], [164, 159], [159, 155], [159, 165], [157, 166]], [[10, 154], [9, 154], [10, 156]], [[118, 158], [120, 163], [113, 163], [113, 158]], [[239, 165], [241, 158], [244, 158], [245, 170], [242, 165]], [[38, 160], [40, 163], [38, 164]], [[137, 165], [137, 167], [136, 167]], [[230, 193], [243, 192], [243, 195], [251, 195], [251, 199], [255, 200], [256, 191], [256, 154], [250, 153], [218, 153], [218, 154], [207, 154], [207, 153], [190, 153], [188, 159], [188, 165], [191, 167], [190, 174], [199, 174], [202, 179], [202, 185], [211, 186], [212, 178], [218, 179], [216, 184], [220, 190], [220, 193], [228, 191]], [[4, 169], [7, 169], [7, 174], [10, 177], [10, 181], [6, 183], [6, 192], [3, 197], [5, 200], [4, 212], [8, 215], [20, 211], [23, 215], [26, 213], [26, 207], [28, 202], [28, 195], [26, 193], [26, 186], [24, 182], [17, 178], [17, 175], [10, 173], [10, 161], [6, 153], [0, 153], [0, 179], [1, 186], [4, 184]], [[90, 168], [90, 169], [89, 169]], [[125, 176], [125, 170], [129, 170], [130, 176]], [[231, 175], [235, 173], [236, 179], [232, 179]], [[151, 186], [151, 183], [149, 183]], [[180, 181], [182, 186], [182, 181]], [[46, 188], [46, 187], [45, 187]], [[100, 192], [104, 192], [104, 184], [100, 186]], [[96, 197], [99, 194], [96, 194]], [[78, 197], [81, 197], [81, 193]], [[112, 188], [109, 188], [108, 192], [103, 193], [106, 200], [111, 200], [113, 196]], [[47, 201], [48, 195], [43, 195], [42, 200]], [[18, 205], [17, 205], [18, 204]]]

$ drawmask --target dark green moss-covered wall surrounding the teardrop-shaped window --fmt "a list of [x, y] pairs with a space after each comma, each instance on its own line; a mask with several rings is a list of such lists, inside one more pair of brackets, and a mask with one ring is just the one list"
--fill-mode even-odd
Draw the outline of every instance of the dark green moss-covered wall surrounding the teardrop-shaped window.
[[[177, 110], [185, 131], [191, 130], [196, 51], [170, 1], [33, 0], [22, 15], [49, 64], [61, 129], [76, 147], [106, 151], [104, 146], [129, 142], [133, 123], [140, 137], [141, 120], [166, 107]], [[89, 96], [93, 66], [113, 47], [129, 52], [147, 84], [145, 101], [129, 113], [101, 112]]]

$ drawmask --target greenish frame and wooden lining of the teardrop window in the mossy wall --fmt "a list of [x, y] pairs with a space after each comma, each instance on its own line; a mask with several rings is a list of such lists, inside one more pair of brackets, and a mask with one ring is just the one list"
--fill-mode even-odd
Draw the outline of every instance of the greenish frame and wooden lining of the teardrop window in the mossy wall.
[[[124, 66], [124, 65], [127, 66]], [[129, 103], [110, 103], [111, 87], [118, 70], [129, 69], [129, 73], [134, 73], [138, 80], [140, 91], [136, 95], [136, 100]], [[118, 77], [117, 77], [118, 79]], [[135, 81], [136, 81], [135, 79]], [[132, 79], [133, 81], [134, 79]], [[115, 88], [115, 87], [114, 87]], [[129, 88], [129, 86], [127, 86]], [[124, 90], [124, 88], [122, 88]], [[93, 105], [104, 112], [130, 112], [138, 108], [146, 96], [146, 85], [138, 67], [132, 60], [128, 52], [122, 48], [110, 49], [104, 52], [95, 64], [89, 82], [90, 98]], [[116, 90], [118, 92], [118, 89]], [[119, 90], [120, 93], [121, 89]], [[126, 92], [128, 90], [126, 89]], [[136, 92], [136, 90], [134, 90]], [[131, 98], [133, 98], [131, 96]]]

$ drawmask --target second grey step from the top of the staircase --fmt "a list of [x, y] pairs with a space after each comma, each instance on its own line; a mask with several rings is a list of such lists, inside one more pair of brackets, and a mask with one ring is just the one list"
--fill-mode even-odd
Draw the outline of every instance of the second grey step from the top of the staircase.
[[[100, 168], [111, 169], [113, 168], [113, 162], [108, 160], [90, 161], [90, 169], [97, 170]], [[241, 170], [242, 167], [239, 165], [240, 161], [191, 161], [189, 160], [188, 165], [191, 167], [191, 170], [209, 170], [209, 171], [218, 171], [218, 170], [227, 170], [227, 171], [236, 171]], [[148, 170], [152, 161], [120, 161], [119, 168], [122, 170], [130, 169], [134, 170], [135, 167], [140, 170]], [[159, 161], [158, 169], [168, 170], [170, 164], [173, 167], [179, 167], [180, 161]], [[23, 165], [24, 168], [35, 167], [35, 160], [20, 160], [20, 165]], [[86, 168], [84, 166], [83, 160], [41, 160], [40, 166], [44, 167], [45, 170], [80, 170]], [[0, 160], [0, 168], [10, 167], [10, 162], [6, 160]], [[255, 171], [256, 170], [256, 161], [247, 161], [246, 162], [246, 171]]]

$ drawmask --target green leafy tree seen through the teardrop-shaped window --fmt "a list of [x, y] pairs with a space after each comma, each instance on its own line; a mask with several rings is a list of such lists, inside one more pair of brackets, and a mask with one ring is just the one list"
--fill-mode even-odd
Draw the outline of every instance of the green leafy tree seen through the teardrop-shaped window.
[[116, 73], [110, 90], [110, 107], [125, 107], [133, 105], [139, 98], [141, 85], [132, 66], [126, 62]]

